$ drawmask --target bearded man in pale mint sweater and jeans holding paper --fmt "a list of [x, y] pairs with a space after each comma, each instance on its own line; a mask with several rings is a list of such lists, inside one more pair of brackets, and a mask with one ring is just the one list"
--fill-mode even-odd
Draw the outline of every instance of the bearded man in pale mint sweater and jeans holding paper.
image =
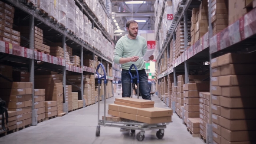
[[[129, 20], [126, 23], [126, 29], [129, 32], [127, 36], [121, 37], [115, 46], [114, 62], [121, 64], [122, 97], [131, 97], [131, 76], [128, 73], [132, 64], [135, 64], [139, 74], [139, 92], [143, 99], [151, 100], [148, 87], [148, 76], [145, 72], [145, 63], [143, 56], [147, 48], [147, 41], [138, 36], [138, 22]], [[141, 58], [141, 59], [139, 59]], [[150, 56], [149, 60], [153, 60]], [[131, 70], [132, 75], [137, 75], [135, 69]], [[137, 83], [137, 79], [133, 82]], [[120, 131], [128, 131], [121, 128]]]

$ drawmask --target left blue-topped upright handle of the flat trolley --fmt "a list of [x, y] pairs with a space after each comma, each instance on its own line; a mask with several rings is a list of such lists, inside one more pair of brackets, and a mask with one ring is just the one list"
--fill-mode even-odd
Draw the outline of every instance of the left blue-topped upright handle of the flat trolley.
[[[104, 75], [102, 77], [99, 77], [98, 74], [98, 69], [99, 67], [102, 67]], [[102, 63], [100, 63], [96, 69], [96, 74], [98, 75], [98, 127], [99, 127], [99, 102], [100, 102], [100, 84], [101, 84], [101, 79], [104, 79], [104, 127], [106, 126], [106, 85], [108, 83], [107, 79], [106, 79], [106, 71], [104, 68], [104, 65], [102, 65]]]

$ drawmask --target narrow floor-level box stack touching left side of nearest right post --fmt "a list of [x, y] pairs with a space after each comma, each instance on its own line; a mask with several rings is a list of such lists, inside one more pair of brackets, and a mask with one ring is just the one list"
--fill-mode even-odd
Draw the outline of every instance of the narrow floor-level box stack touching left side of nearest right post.
[[[209, 111], [203, 109], [203, 105], [210, 105], [210, 92], [200, 92], [200, 134], [207, 139], [207, 124], [208, 122], [205, 119], [210, 118]], [[213, 108], [213, 107], [212, 107]], [[205, 118], [207, 117], [207, 118]]]

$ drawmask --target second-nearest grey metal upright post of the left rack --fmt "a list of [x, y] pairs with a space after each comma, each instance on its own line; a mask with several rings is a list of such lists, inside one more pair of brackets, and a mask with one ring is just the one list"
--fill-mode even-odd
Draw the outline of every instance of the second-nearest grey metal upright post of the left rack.
[[66, 35], [62, 35], [62, 47], [64, 51], [64, 59], [65, 59], [65, 66], [62, 67], [62, 74], [63, 74], [63, 112], [66, 112], [66, 114], [69, 114], [69, 108], [68, 108], [68, 103], [66, 101]]

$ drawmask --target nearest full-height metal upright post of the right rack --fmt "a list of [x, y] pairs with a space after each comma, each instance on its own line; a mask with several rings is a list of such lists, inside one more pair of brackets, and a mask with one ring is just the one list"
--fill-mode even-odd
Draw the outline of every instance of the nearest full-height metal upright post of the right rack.
[[[212, 0], [209, 0], [208, 2], [208, 16], [209, 16], [209, 43], [210, 43], [210, 39], [212, 38], [213, 36], [213, 27], [212, 27], [212, 20], [211, 20], [211, 7], [212, 7]], [[209, 46], [209, 50], [211, 49], [211, 46]], [[209, 52], [210, 54], [210, 52]], [[210, 59], [209, 59], [209, 62], [210, 62], [210, 81], [212, 79], [212, 69], [211, 69], [211, 59], [212, 59], [212, 55], [210, 54]], [[213, 144], [213, 125], [212, 125], [212, 95], [211, 95], [211, 85], [212, 83], [210, 82], [210, 109], [209, 109], [209, 115], [210, 115], [210, 118], [209, 118], [209, 124], [207, 124], [207, 144]]]

